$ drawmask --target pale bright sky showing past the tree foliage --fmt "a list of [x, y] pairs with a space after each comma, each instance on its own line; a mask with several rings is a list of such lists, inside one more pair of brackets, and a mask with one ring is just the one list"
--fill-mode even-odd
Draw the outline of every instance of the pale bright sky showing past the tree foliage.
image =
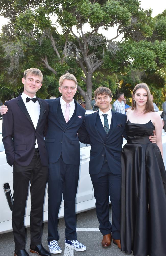
[[[140, 7], [143, 8], [144, 10], [152, 8], [152, 10], [153, 10], [152, 16], [154, 17], [158, 13], [162, 13], [163, 10], [166, 9], [166, 1], [165, 0], [157, 0], [157, 1], [156, 0], [141, 0]], [[6, 23], [7, 23], [7, 19], [0, 16], [0, 32], [1, 32], [1, 26]], [[105, 36], [108, 35], [108, 31], [105, 33], [104, 33], [104, 31], [102, 31], [102, 32], [103, 32], [103, 34], [106, 33]]]

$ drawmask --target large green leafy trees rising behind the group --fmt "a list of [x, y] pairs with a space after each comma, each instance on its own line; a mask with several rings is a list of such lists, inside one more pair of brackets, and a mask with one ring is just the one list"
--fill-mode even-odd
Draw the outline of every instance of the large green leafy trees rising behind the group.
[[130, 98], [136, 83], [147, 82], [164, 99], [166, 10], [153, 18], [139, 0], [2, 0], [0, 9], [10, 19], [0, 37], [3, 100], [20, 93], [30, 67], [44, 74], [42, 98], [58, 96], [59, 77], [74, 74], [87, 109], [98, 86]]

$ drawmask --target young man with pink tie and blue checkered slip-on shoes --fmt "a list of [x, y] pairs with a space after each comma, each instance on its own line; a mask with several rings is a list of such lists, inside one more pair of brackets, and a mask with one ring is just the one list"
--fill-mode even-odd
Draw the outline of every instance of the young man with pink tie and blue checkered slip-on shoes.
[[86, 247], [77, 241], [75, 197], [77, 193], [80, 146], [77, 131], [81, 126], [85, 109], [74, 99], [77, 79], [69, 73], [60, 77], [62, 96], [46, 100], [49, 103], [46, 146], [49, 155], [48, 175], [48, 246], [51, 253], [61, 253], [58, 245], [58, 212], [64, 199], [65, 245], [76, 251]]

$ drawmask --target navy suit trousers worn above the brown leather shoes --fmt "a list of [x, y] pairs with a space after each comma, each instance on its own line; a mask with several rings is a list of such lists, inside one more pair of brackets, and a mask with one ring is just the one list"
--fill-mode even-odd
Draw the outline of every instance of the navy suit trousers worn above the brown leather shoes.
[[[121, 175], [111, 173], [106, 162], [98, 174], [90, 175], [96, 198], [96, 215], [102, 235], [111, 234], [120, 239]], [[109, 220], [109, 195], [112, 207], [112, 225]]]

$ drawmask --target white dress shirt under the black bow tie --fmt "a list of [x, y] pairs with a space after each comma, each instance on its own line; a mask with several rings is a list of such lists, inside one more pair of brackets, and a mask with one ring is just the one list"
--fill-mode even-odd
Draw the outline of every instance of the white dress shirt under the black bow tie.
[[[34, 97], [29, 97], [28, 95], [26, 95], [24, 92], [22, 93], [21, 95], [21, 98], [26, 106], [26, 109], [30, 115], [30, 118], [32, 120], [32, 123], [36, 129], [36, 126], [37, 126], [37, 123], [38, 123], [38, 120], [39, 120], [39, 115], [40, 115], [40, 105], [39, 105], [39, 101], [37, 100], [36, 102], [33, 102], [32, 100], [30, 100], [29, 102], [26, 102], [26, 98], [30, 98], [30, 99], [33, 99], [36, 97], [36, 95]], [[35, 147], [37, 148], [38, 147], [38, 143], [37, 143], [37, 140], [36, 140], [36, 145]]]

